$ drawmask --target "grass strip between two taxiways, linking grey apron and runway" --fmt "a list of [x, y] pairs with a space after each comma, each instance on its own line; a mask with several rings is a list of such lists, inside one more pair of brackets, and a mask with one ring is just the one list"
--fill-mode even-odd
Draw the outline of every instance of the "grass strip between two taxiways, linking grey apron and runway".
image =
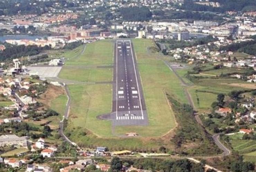
[[110, 82], [112, 80], [112, 75], [112, 68], [64, 66], [59, 77], [80, 82]]

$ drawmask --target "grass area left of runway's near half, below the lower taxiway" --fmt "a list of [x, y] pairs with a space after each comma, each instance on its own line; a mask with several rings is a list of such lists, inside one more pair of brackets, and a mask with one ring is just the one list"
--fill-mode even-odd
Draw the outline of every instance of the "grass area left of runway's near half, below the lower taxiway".
[[96, 118], [98, 115], [111, 112], [112, 85], [70, 85], [68, 88], [71, 93], [68, 128], [72, 130], [75, 127], [76, 129], [81, 129], [81, 132], [87, 128], [100, 136], [112, 136], [110, 121]]

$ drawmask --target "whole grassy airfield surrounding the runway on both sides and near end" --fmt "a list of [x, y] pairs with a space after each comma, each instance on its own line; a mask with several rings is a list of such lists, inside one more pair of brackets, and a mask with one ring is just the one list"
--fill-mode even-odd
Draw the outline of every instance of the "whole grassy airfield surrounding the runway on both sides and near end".
[[[117, 150], [124, 147], [138, 149], [144, 146], [145, 149], [151, 149], [169, 142], [169, 140], [163, 141], [161, 137], [155, 137], [167, 133], [176, 126], [165, 93], [171, 94], [182, 103], [187, 103], [184, 90], [174, 73], [157, 58], [158, 54], [147, 51], [147, 47], [155, 46], [151, 40], [132, 41], [149, 116], [148, 126], [113, 128], [110, 121], [96, 118], [98, 115], [110, 113], [112, 109], [112, 85], [108, 84], [112, 81], [113, 73], [112, 41], [93, 42], [87, 44], [85, 50], [79, 47], [75, 50], [76, 57], [72, 57], [72, 53], [65, 53], [68, 60], [59, 77], [84, 82], [68, 85], [71, 93], [71, 109], [65, 130], [66, 135], [81, 146], [104, 145]], [[102, 68], [102, 66], [106, 67]], [[132, 131], [137, 132], [140, 137], [119, 137]]]

